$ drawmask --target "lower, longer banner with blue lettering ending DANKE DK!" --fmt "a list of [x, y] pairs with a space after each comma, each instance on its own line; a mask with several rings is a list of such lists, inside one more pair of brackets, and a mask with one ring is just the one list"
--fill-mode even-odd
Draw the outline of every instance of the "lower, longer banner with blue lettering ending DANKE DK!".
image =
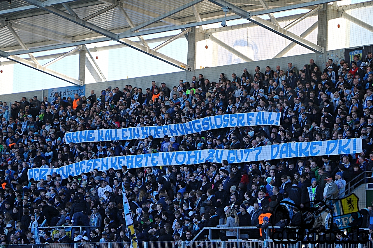
[[293, 142], [268, 146], [260, 146], [252, 149], [239, 150], [195, 150], [187, 152], [161, 152], [141, 155], [118, 156], [100, 159], [83, 160], [72, 163], [58, 169], [29, 169], [28, 178], [39, 181], [46, 179], [53, 172], [61, 175], [61, 178], [73, 177], [84, 173], [90, 173], [93, 169], [107, 171], [109, 168], [122, 169], [126, 165], [128, 169], [147, 166], [171, 166], [193, 165], [198, 163], [222, 163], [223, 159], [228, 163], [242, 163], [259, 160], [272, 160], [283, 158], [299, 158], [308, 156], [343, 155], [362, 152], [361, 139], [327, 140], [315, 142]]

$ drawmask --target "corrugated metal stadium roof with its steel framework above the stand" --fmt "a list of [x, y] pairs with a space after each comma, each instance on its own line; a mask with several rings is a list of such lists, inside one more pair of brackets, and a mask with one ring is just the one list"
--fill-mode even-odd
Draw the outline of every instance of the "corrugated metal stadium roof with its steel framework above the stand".
[[[179, 35], [164, 39], [164, 44], [168, 44], [181, 36], [187, 37], [192, 27], [222, 22], [223, 9], [229, 8], [226, 20], [247, 19], [323, 53], [323, 47], [280, 27], [272, 13], [309, 9], [295, 18], [297, 23], [317, 15], [323, 4], [335, 0], [12, 0], [11, 4], [8, 1], [0, 2], [0, 56], [14, 62], [27, 65], [17, 55], [28, 54], [28, 66], [35, 67], [38, 62], [32, 53], [66, 47], [75, 47], [72, 53], [76, 53], [82, 48], [87, 50], [84, 44], [114, 40], [180, 69], [191, 70], [192, 66], [151, 49], [142, 35], [181, 30]], [[266, 14], [270, 21], [258, 17]], [[136, 36], [138, 42], [128, 39]]]

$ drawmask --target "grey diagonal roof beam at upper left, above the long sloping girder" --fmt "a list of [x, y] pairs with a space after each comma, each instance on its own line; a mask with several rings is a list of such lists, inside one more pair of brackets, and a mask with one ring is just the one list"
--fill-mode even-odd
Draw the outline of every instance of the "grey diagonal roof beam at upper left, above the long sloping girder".
[[92, 30], [92, 31], [94, 31], [98, 34], [104, 35], [104, 36], [106, 36], [110, 39], [113, 39], [113, 40], [118, 40], [119, 39], [117, 34], [114, 34], [110, 31], [107, 31], [104, 28], [101, 28], [97, 25], [94, 25], [94, 24], [89, 23], [85, 20], [77, 18], [76, 16], [73, 16], [69, 13], [66, 13], [66, 12], [60, 10], [60, 9], [57, 9], [56, 7], [52, 7], [52, 6], [44, 7], [43, 2], [40, 1], [40, 0], [26, 0], [26, 2], [35, 5], [35, 6], [39, 7], [40, 9], [46, 10], [50, 13], [53, 13], [54, 15], [60, 16], [63, 19], [69, 20], [70, 22], [76, 23], [76, 24], [78, 24], [78, 25], [80, 25], [84, 28], [90, 29], [90, 30]]

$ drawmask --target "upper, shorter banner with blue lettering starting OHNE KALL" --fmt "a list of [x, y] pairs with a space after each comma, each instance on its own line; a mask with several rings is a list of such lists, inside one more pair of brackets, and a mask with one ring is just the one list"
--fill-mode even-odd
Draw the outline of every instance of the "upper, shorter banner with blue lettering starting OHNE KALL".
[[181, 136], [225, 127], [248, 127], [255, 125], [280, 125], [281, 113], [250, 112], [241, 114], [214, 115], [182, 124], [155, 127], [129, 127], [121, 129], [85, 130], [65, 134], [66, 143], [101, 142], [114, 140], [154, 139]]

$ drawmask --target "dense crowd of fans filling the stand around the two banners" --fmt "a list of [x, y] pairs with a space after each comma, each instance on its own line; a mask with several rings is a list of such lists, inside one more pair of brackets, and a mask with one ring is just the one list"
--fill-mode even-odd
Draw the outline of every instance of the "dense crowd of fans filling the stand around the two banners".
[[[298, 226], [300, 210], [313, 200], [344, 195], [346, 183], [358, 182], [373, 167], [372, 53], [352, 63], [331, 59], [325, 68], [314, 60], [298, 70], [267, 66], [253, 75], [224, 73], [216, 82], [202, 74], [191, 82], [180, 80], [142, 92], [126, 85], [108, 87], [96, 96], [56, 93], [48, 102], [22, 98], [0, 102], [0, 242], [34, 243], [33, 223], [40, 226], [85, 225], [73, 237], [61, 229], [42, 242], [128, 241], [123, 212], [123, 189], [134, 216], [138, 241], [190, 242], [204, 227], [257, 226], [268, 223]], [[187, 136], [115, 142], [65, 144], [66, 132], [185, 123], [212, 115], [253, 111], [281, 113], [281, 125], [232, 127]], [[27, 177], [32, 168], [59, 168], [81, 160], [131, 154], [197, 149], [243, 149], [286, 142], [362, 139], [363, 152], [342, 156], [280, 159], [254, 163], [204, 163], [99, 172], [62, 180]], [[271, 215], [282, 204], [283, 219]], [[297, 207], [291, 207], [295, 205]], [[373, 212], [368, 215], [373, 216]], [[369, 219], [367, 223], [369, 226]], [[264, 220], [264, 222], [263, 222]], [[280, 221], [278, 223], [278, 221]], [[97, 227], [97, 228], [94, 228]], [[263, 230], [263, 232], [261, 231]], [[240, 230], [240, 237], [257, 239], [264, 229]], [[214, 238], [235, 238], [235, 229], [213, 231]]]

